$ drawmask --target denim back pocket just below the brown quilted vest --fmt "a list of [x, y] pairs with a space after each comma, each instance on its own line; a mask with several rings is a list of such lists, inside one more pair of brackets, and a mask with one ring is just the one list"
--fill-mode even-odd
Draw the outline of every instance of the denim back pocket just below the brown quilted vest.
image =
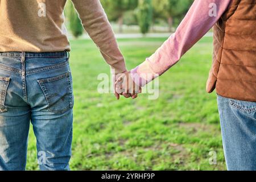
[[237, 110], [242, 111], [243, 113], [254, 113], [256, 111], [256, 102], [249, 101], [238, 101], [238, 100], [230, 100], [230, 105]]

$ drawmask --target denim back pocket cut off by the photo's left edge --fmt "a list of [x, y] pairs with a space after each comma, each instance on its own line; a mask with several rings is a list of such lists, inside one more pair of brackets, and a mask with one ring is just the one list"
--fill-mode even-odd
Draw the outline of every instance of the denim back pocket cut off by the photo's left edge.
[[7, 111], [7, 107], [5, 106], [5, 100], [9, 82], [10, 77], [0, 77], [0, 113]]

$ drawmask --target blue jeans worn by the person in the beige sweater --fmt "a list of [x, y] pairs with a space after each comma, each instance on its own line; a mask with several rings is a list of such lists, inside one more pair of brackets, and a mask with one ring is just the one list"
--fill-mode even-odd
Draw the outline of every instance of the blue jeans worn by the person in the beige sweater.
[[69, 170], [72, 76], [67, 52], [0, 53], [0, 170], [26, 168], [30, 121], [41, 170]]

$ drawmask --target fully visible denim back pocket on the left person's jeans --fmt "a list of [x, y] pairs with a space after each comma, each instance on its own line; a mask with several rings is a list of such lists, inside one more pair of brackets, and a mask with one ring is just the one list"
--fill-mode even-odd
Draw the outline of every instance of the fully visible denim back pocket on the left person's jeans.
[[61, 114], [72, 109], [74, 102], [71, 72], [38, 82], [46, 97], [49, 111]]

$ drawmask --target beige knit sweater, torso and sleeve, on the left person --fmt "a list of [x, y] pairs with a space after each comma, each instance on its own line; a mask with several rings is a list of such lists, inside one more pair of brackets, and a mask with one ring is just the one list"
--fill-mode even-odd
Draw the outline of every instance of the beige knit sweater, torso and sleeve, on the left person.
[[[0, 0], [0, 52], [70, 51], [64, 26], [67, 0]], [[72, 0], [82, 25], [116, 73], [126, 70], [100, 0]]]

